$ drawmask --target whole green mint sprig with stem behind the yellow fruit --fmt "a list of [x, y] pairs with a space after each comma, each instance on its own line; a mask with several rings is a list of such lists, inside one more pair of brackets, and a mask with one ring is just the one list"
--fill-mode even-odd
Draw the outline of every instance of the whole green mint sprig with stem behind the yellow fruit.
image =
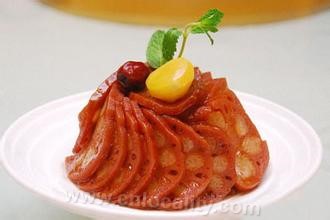
[[189, 34], [206, 34], [213, 44], [214, 40], [210, 32], [218, 31], [222, 17], [223, 13], [218, 9], [210, 9], [198, 21], [187, 24], [183, 31], [177, 28], [170, 28], [167, 31], [157, 30], [148, 43], [147, 62], [153, 68], [158, 68], [173, 59], [181, 35], [183, 39], [178, 57], [183, 55]]

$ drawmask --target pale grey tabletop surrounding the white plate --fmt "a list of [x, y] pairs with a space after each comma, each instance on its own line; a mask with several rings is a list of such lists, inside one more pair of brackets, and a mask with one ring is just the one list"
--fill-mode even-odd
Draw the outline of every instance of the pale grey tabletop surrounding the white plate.
[[[93, 89], [127, 60], [144, 60], [155, 27], [76, 17], [32, 0], [0, 3], [0, 135], [17, 117]], [[330, 11], [286, 22], [225, 27], [215, 45], [191, 37], [185, 56], [236, 90], [277, 102], [321, 137], [320, 170], [259, 219], [329, 219]], [[279, 180], [280, 181], [280, 180]], [[85, 219], [33, 195], [0, 167], [0, 219]], [[255, 217], [246, 216], [244, 219]]]

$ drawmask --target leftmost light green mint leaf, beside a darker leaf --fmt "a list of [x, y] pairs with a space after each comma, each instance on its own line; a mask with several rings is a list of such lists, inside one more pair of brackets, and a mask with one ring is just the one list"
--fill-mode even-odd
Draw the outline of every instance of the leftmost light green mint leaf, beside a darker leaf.
[[154, 32], [149, 40], [147, 48], [147, 62], [153, 68], [158, 68], [165, 63], [163, 56], [163, 42], [165, 31], [158, 30]]

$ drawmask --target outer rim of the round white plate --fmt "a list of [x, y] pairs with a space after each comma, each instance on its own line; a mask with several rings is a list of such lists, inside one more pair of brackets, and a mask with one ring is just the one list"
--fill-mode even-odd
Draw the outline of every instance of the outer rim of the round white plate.
[[[5, 142], [7, 140], [7, 136], [12, 132], [12, 130], [19, 124], [21, 123], [25, 118], [30, 117], [32, 114], [34, 114], [35, 112], [42, 110], [43, 108], [49, 106], [49, 105], [53, 105], [59, 102], [63, 102], [63, 101], [69, 101], [70, 99], [76, 99], [80, 96], [87, 96], [88, 94], [91, 94], [93, 91], [89, 90], [89, 91], [85, 91], [85, 92], [80, 92], [80, 93], [76, 93], [73, 95], [69, 95], [69, 96], [64, 96], [62, 98], [58, 98], [52, 101], [49, 101], [45, 104], [42, 104], [40, 106], [37, 106], [35, 108], [33, 108], [32, 110], [22, 114], [21, 116], [19, 116], [14, 122], [12, 122], [9, 127], [5, 130], [5, 132], [3, 133], [1, 139], [0, 139], [0, 165], [4, 168], [4, 170], [6, 171], [6, 173], [14, 179], [14, 181], [16, 183], [18, 183], [19, 185], [23, 186], [25, 189], [28, 189], [29, 191], [33, 192], [34, 194], [38, 195], [38, 197], [40, 197], [43, 200], [49, 201], [53, 204], [56, 204], [59, 207], [62, 207], [68, 211], [73, 211], [75, 213], [82, 213], [82, 210], [84, 211], [89, 211], [89, 212], [98, 212], [98, 213], [102, 213], [102, 214], [114, 214], [117, 216], [130, 216], [130, 217], [145, 217], [145, 218], [155, 218], [155, 217], [163, 217], [163, 218], [167, 218], [167, 217], [196, 217], [196, 216], [201, 216], [203, 215], [202, 212], [186, 212], [186, 210], [182, 210], [182, 211], [174, 211], [174, 212], [165, 212], [165, 211], [150, 211], [150, 210], [136, 210], [136, 209], [131, 209], [134, 210], [134, 212], [123, 212], [121, 210], [117, 210], [117, 209], [111, 209], [111, 211], [104, 211], [104, 210], [95, 210], [95, 208], [93, 207], [88, 207], [88, 206], [81, 206], [81, 204], [79, 203], [64, 203], [61, 199], [51, 196], [49, 194], [46, 194], [44, 192], [42, 192], [41, 190], [37, 190], [33, 187], [32, 184], [27, 183], [26, 181], [24, 181], [23, 178], [21, 178], [17, 173], [15, 173], [15, 170], [9, 165], [8, 161], [5, 158]], [[317, 152], [315, 153], [315, 155], [317, 156], [318, 160], [313, 163], [313, 167], [311, 169], [309, 169], [309, 172], [307, 173], [307, 175], [304, 175], [301, 180], [299, 181], [298, 184], [296, 184], [294, 187], [291, 187], [286, 194], [279, 196], [276, 199], [273, 199], [272, 201], [268, 201], [265, 202], [263, 204], [261, 204], [260, 206], [262, 207], [266, 207], [272, 203], [275, 203], [281, 199], [283, 199], [284, 197], [292, 194], [293, 192], [295, 192], [297, 189], [301, 188], [303, 185], [305, 185], [311, 178], [312, 176], [317, 172], [317, 170], [320, 167], [320, 164], [322, 162], [322, 157], [323, 157], [323, 146], [322, 146], [322, 142], [320, 137], [318, 136], [318, 134], [316, 133], [316, 131], [313, 129], [313, 127], [306, 121], [304, 120], [301, 116], [299, 116], [297, 113], [287, 109], [286, 107], [283, 107], [275, 102], [272, 102], [268, 99], [256, 96], [256, 95], [252, 95], [249, 93], [245, 93], [245, 92], [240, 92], [240, 91], [236, 91], [234, 90], [234, 92], [239, 96], [239, 97], [247, 97], [248, 99], [254, 99], [257, 100], [258, 103], [262, 102], [264, 104], [266, 104], [267, 106], [273, 106], [275, 108], [278, 108], [279, 110], [285, 112], [286, 114], [290, 115], [291, 117], [294, 117], [295, 120], [298, 120], [299, 123], [301, 123], [304, 128], [308, 129], [308, 132], [310, 134], [310, 138], [312, 138], [312, 140], [315, 141], [315, 148], [317, 148]], [[210, 213], [212, 214], [212, 213]], [[85, 215], [90, 216], [90, 214], [85, 213]]]

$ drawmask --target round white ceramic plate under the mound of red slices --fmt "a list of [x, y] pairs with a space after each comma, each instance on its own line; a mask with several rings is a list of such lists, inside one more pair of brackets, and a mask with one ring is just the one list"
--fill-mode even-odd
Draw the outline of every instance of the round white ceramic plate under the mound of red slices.
[[[25, 114], [1, 140], [0, 156], [8, 173], [20, 184], [72, 212], [100, 219], [224, 219], [259, 214], [261, 209], [301, 187], [319, 167], [321, 142], [303, 119], [265, 99], [237, 92], [262, 137], [270, 164], [262, 184], [252, 192], [223, 202], [176, 212], [120, 207], [78, 190], [67, 178], [64, 158], [78, 134], [78, 112], [91, 92], [62, 98]], [[239, 215], [236, 215], [238, 213]]]

